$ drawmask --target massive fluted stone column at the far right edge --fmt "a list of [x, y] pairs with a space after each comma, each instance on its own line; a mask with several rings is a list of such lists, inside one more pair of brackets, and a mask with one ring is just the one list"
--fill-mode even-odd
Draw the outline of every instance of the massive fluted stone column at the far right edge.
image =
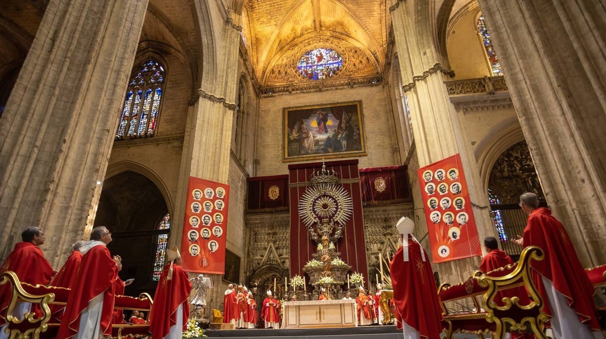
[[606, 263], [604, 1], [479, 0], [551, 210]]

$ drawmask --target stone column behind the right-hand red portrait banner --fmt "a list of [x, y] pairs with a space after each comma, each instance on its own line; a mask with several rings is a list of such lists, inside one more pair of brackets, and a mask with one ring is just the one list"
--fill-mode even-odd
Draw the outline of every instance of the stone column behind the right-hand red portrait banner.
[[[488, 213], [487, 192], [482, 191], [464, 126], [459, 122], [444, 84], [444, 75], [448, 72], [442, 67], [433, 43], [428, 2], [398, 1], [391, 6], [390, 12], [419, 167], [460, 153], [479, 237], [481, 240], [490, 235], [496, 237], [496, 229]], [[411, 181], [419, 185], [416, 179]], [[414, 191], [418, 191], [418, 187]], [[422, 213], [424, 205], [422, 201], [415, 201], [415, 206], [419, 206], [416, 232], [421, 239], [427, 233]], [[474, 257], [433, 264], [433, 267], [438, 270], [442, 281], [457, 283], [470, 277], [479, 262], [479, 257]]]

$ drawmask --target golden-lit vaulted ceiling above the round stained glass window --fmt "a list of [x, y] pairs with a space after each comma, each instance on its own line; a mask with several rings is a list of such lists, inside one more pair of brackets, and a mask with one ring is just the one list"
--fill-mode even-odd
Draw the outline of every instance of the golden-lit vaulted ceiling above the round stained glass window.
[[263, 84], [302, 81], [275, 75], [296, 67], [294, 55], [316, 47], [337, 50], [361, 70], [356, 75], [382, 72], [388, 6], [385, 0], [248, 0], [243, 25], [256, 75]]

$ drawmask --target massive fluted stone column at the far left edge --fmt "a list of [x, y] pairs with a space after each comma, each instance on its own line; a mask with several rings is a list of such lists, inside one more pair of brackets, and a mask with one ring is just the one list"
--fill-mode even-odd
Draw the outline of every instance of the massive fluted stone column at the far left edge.
[[48, 2], [0, 119], [2, 258], [27, 226], [55, 268], [88, 237], [147, 2]]

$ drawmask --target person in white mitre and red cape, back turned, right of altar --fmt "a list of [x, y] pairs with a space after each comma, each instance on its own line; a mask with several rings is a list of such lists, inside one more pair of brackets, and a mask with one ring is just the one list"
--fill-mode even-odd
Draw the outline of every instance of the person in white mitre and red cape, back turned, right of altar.
[[[415, 223], [403, 216], [396, 224], [402, 246], [390, 263], [396, 317], [401, 318], [404, 339], [438, 339], [442, 310], [427, 253], [413, 237]], [[399, 320], [399, 319], [398, 319]]]

